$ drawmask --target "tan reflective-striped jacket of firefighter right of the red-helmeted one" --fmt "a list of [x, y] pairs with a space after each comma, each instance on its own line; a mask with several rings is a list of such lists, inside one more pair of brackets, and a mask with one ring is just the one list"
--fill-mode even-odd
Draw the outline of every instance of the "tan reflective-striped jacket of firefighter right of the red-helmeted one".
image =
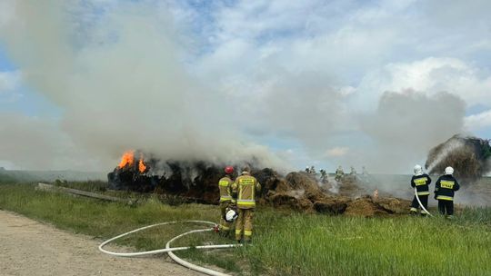
[[250, 209], [256, 207], [256, 192], [261, 189], [261, 184], [257, 182], [256, 177], [249, 173], [243, 173], [235, 179], [232, 185], [233, 192], [237, 193], [237, 207]]

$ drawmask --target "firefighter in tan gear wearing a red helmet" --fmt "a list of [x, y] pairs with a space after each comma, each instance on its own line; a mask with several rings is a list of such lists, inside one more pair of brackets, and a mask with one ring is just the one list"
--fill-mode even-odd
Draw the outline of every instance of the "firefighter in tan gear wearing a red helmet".
[[234, 173], [234, 167], [225, 167], [225, 176], [218, 181], [218, 189], [220, 190], [220, 225], [218, 226], [218, 231], [222, 235], [227, 235], [230, 231], [230, 222], [225, 221], [226, 212], [233, 207], [235, 204], [232, 198], [232, 174]]

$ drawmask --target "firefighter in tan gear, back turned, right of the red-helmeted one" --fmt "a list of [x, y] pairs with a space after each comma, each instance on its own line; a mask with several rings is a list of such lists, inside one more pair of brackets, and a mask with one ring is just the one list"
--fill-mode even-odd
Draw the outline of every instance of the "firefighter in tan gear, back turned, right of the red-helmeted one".
[[261, 190], [261, 184], [251, 175], [249, 167], [244, 167], [242, 173], [232, 184], [232, 193], [236, 198], [238, 218], [235, 222], [235, 241], [250, 242], [253, 233], [253, 218], [256, 208], [256, 192]]

